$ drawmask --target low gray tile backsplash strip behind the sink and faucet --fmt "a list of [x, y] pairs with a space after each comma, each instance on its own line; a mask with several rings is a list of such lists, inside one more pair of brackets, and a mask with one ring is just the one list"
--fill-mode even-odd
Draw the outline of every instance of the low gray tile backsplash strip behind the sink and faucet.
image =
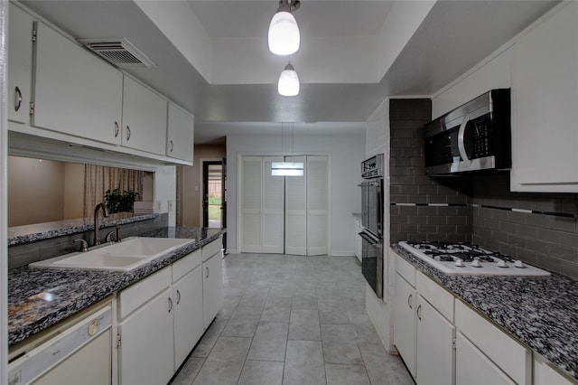
[[[164, 213], [153, 220], [138, 221], [126, 223], [121, 227], [121, 238], [134, 237], [146, 231], [166, 227], [169, 215]], [[105, 237], [109, 230], [115, 228], [101, 228], [100, 235]], [[58, 257], [62, 254], [68, 254], [79, 250], [79, 244], [73, 239], [85, 239], [92, 245], [94, 231], [85, 231], [83, 233], [67, 235], [52, 239], [42, 239], [35, 242], [23, 243], [8, 247], [8, 268], [19, 268], [39, 260]], [[114, 236], [113, 236], [114, 239]]]

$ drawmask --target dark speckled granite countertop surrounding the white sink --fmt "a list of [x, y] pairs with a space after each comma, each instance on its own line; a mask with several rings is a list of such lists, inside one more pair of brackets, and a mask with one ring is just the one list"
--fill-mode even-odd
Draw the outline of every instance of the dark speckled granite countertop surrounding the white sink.
[[14, 268], [8, 271], [8, 345], [35, 333], [153, 274], [195, 249], [218, 239], [226, 230], [168, 227], [141, 237], [196, 239], [131, 272]]

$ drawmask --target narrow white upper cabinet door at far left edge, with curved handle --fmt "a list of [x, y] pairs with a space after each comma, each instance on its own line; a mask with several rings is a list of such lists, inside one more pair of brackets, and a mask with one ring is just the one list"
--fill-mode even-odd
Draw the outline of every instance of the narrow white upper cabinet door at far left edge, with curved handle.
[[8, 120], [30, 122], [33, 77], [33, 18], [8, 6]]

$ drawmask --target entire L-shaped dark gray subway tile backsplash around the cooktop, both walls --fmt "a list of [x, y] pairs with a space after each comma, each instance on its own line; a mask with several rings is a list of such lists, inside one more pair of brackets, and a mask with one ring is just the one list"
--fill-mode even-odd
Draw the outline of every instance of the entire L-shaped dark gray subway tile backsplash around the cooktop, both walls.
[[471, 241], [578, 278], [578, 194], [509, 191], [509, 173], [430, 177], [428, 99], [392, 99], [390, 239]]

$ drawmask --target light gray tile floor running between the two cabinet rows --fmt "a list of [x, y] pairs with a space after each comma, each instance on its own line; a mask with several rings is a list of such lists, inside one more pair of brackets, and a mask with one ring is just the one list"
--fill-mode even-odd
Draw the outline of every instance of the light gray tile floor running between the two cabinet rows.
[[413, 384], [365, 311], [355, 257], [231, 254], [223, 307], [173, 385]]

